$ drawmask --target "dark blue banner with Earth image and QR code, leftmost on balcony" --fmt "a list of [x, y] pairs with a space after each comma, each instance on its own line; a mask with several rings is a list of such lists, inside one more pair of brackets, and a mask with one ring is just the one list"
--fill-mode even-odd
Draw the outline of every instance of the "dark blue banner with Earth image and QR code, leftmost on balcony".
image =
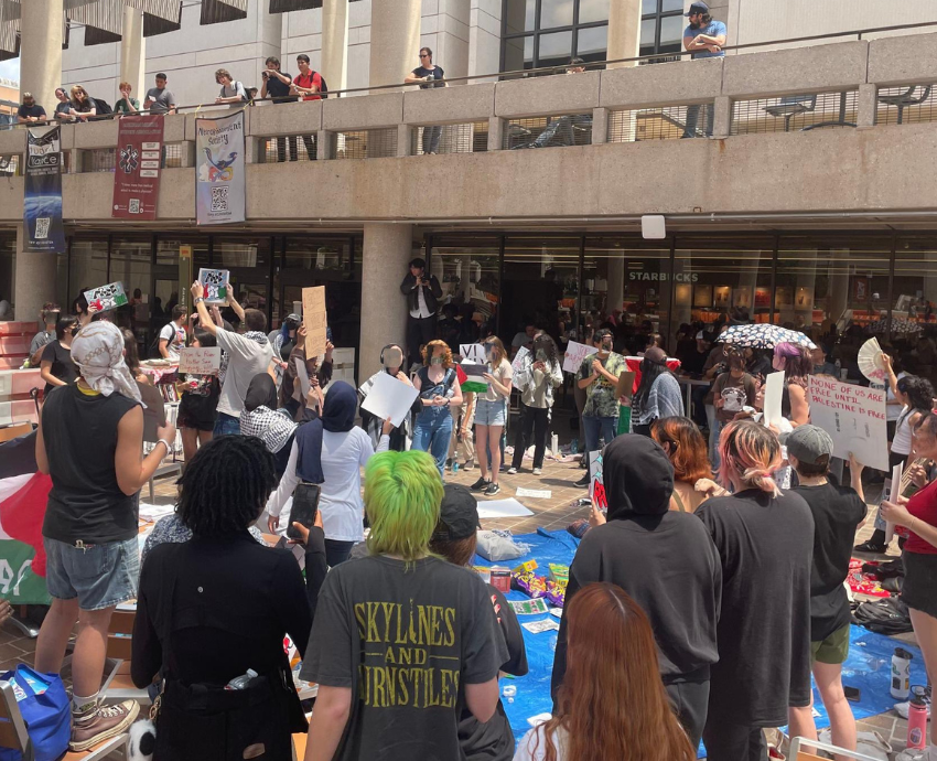
[[65, 253], [62, 225], [61, 127], [33, 127], [26, 136], [23, 226], [26, 251]]

